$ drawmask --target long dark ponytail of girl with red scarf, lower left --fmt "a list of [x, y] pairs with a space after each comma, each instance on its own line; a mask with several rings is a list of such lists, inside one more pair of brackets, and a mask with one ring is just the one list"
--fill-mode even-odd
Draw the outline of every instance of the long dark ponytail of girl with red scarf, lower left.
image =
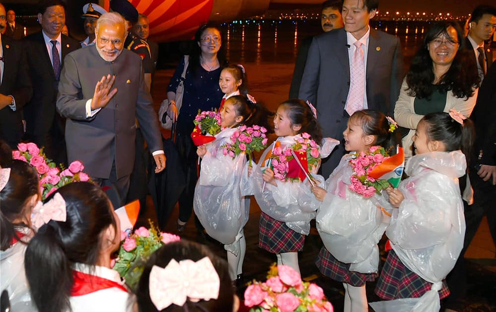
[[24, 259], [31, 298], [39, 312], [70, 310], [72, 269], [55, 227], [58, 224], [50, 221], [39, 229], [31, 239]]

